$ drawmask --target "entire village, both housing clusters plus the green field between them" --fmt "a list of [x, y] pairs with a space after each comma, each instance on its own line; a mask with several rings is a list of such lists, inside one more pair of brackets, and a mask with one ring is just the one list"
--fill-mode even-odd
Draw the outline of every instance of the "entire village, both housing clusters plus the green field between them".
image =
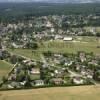
[[0, 61], [12, 67], [0, 88], [99, 84], [100, 29], [89, 26], [99, 18], [49, 15], [1, 23]]

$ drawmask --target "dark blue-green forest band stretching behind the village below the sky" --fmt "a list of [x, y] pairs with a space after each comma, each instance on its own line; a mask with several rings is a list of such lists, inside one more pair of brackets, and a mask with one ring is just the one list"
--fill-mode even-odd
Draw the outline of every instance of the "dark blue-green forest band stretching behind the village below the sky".
[[100, 4], [48, 4], [48, 3], [0, 3], [0, 21], [29, 19], [46, 15], [100, 15]]

